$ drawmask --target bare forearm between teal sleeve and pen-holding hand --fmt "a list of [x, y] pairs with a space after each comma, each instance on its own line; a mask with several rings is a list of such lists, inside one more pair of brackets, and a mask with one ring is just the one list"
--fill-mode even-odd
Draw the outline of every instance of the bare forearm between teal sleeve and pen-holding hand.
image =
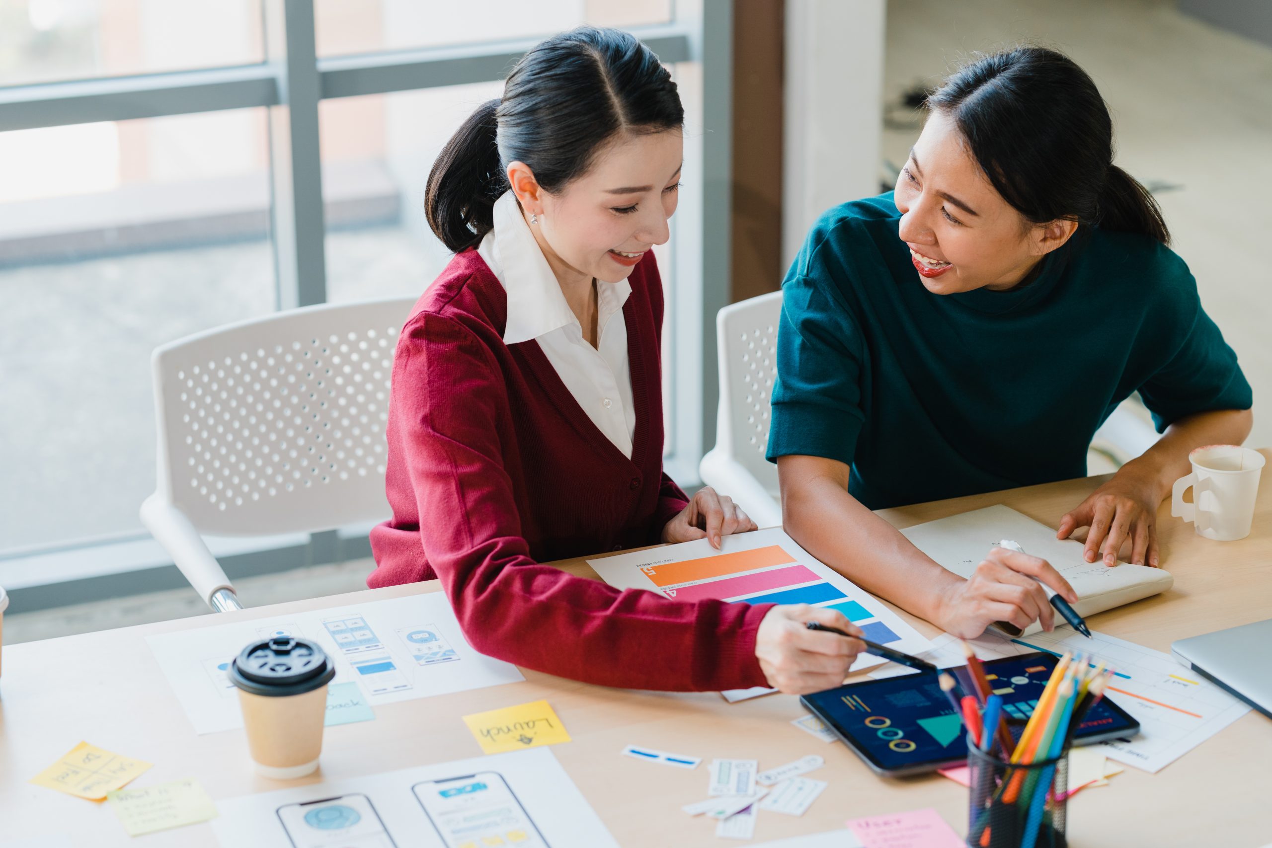
[[[778, 465], [806, 460], [784, 456]], [[929, 622], [963, 578], [936, 564], [832, 475], [782, 475], [782, 526], [805, 551], [866, 591]]]

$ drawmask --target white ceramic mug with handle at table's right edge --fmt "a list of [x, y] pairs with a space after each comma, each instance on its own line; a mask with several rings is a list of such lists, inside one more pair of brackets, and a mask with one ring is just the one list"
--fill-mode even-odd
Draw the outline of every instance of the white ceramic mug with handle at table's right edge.
[[[1207, 445], [1188, 454], [1193, 472], [1175, 481], [1170, 515], [1192, 521], [1197, 535], [1234, 542], [1250, 534], [1263, 454], [1236, 445]], [[1193, 489], [1193, 502], [1184, 492]]]

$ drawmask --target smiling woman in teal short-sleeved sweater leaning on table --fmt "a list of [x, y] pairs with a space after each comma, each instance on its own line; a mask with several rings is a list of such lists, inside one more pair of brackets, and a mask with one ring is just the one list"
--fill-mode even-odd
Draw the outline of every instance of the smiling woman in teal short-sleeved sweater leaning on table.
[[957, 636], [1049, 628], [1029, 577], [1071, 590], [1040, 559], [963, 580], [870, 510], [1081, 477], [1138, 392], [1163, 437], [1058, 537], [1156, 566], [1158, 506], [1191, 449], [1249, 435], [1250, 388], [1077, 65], [987, 56], [927, 107], [895, 191], [829, 210], [786, 276], [768, 458], [786, 529], [870, 591]]

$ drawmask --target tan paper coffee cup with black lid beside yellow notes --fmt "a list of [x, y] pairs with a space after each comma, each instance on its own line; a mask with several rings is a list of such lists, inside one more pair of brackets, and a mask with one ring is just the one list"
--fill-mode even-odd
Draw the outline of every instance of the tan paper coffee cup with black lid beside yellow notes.
[[275, 636], [243, 648], [229, 676], [256, 770], [280, 781], [312, 774], [322, 754], [327, 683], [336, 676], [327, 653], [309, 639]]

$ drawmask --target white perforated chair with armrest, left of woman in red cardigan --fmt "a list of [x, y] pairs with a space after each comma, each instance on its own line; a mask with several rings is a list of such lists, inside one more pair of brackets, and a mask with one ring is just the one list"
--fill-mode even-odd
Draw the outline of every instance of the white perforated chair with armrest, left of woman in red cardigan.
[[307, 306], [155, 350], [158, 483], [141, 521], [209, 606], [242, 609], [201, 533], [314, 533], [389, 515], [389, 380], [413, 304]]

